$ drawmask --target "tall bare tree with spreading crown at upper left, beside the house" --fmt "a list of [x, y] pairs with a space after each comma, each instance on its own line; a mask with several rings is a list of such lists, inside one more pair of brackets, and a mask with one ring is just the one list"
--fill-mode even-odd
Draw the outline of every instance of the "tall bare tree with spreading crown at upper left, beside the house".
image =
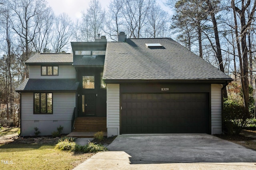
[[[22, 63], [31, 56], [30, 43], [38, 33], [36, 17], [46, 12], [46, 0], [8, 0], [8, 8], [14, 13], [11, 18], [12, 29], [18, 35], [24, 54]], [[24, 64], [25, 72], [22, 79], [28, 78], [28, 68]]]

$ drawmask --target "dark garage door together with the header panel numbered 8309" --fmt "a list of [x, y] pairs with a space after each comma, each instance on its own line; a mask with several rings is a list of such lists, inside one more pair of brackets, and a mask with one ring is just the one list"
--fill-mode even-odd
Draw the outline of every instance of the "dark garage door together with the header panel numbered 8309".
[[120, 133], [210, 134], [210, 87], [120, 84]]

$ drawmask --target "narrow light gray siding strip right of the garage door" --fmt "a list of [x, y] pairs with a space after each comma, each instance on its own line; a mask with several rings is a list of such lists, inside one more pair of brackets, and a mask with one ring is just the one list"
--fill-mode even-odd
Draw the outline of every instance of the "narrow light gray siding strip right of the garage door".
[[221, 84], [211, 84], [211, 134], [222, 133]]

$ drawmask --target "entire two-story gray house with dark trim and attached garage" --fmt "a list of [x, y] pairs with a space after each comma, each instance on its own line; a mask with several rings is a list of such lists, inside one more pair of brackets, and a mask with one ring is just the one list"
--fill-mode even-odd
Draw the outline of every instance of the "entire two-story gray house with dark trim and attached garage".
[[102, 36], [73, 54], [38, 53], [26, 64], [21, 135], [71, 131], [222, 133], [221, 90], [232, 78], [170, 38]]

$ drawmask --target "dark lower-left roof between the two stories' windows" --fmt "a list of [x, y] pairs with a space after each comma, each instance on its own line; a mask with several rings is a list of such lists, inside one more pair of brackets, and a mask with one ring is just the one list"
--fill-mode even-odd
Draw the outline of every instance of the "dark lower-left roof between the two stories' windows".
[[79, 82], [76, 79], [26, 79], [20, 86], [15, 89], [16, 92], [39, 92], [39, 91], [60, 91], [60, 92], [75, 92]]

